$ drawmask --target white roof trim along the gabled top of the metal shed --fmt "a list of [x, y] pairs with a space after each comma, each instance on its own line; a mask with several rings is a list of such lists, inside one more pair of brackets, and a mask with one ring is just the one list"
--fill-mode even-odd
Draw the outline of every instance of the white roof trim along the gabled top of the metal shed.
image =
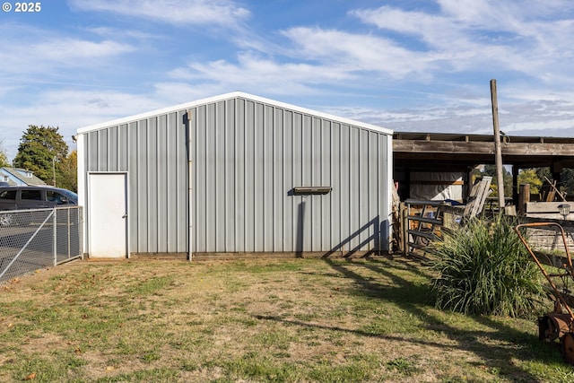
[[393, 134], [393, 131], [391, 129], [387, 129], [386, 127], [371, 125], [371, 124], [367, 124], [367, 123], [364, 123], [361, 121], [355, 121], [355, 120], [352, 120], [350, 118], [341, 118], [341, 117], [338, 117], [335, 115], [330, 115], [328, 113], [318, 112], [317, 110], [301, 108], [301, 107], [287, 104], [287, 103], [284, 103], [281, 101], [265, 99], [264, 97], [254, 96], [252, 94], [244, 93], [242, 91], [232, 91], [230, 93], [225, 93], [225, 94], [222, 94], [220, 96], [214, 96], [214, 97], [209, 97], [209, 98], [202, 99], [202, 100], [191, 101], [191, 102], [187, 102], [184, 104], [174, 105], [174, 106], [169, 107], [169, 108], [152, 110], [152, 111], [137, 114], [134, 116], [128, 116], [126, 118], [117, 118], [117, 119], [114, 119], [111, 121], [107, 121], [107, 122], [103, 122], [103, 123], [95, 124], [95, 125], [91, 125], [91, 126], [84, 126], [84, 127], [79, 128], [77, 130], [77, 133], [78, 133], [78, 135], [82, 135], [84, 133], [89, 133], [89, 132], [103, 129], [103, 128], [109, 127], [109, 126], [124, 125], [124, 124], [130, 123], [130, 122], [133, 122], [133, 121], [137, 121], [137, 120], [141, 120], [141, 119], [145, 119], [145, 118], [151, 118], [153, 116], [170, 113], [170, 112], [174, 112], [177, 110], [195, 108], [196, 106], [209, 104], [209, 103], [213, 103], [216, 101], [230, 100], [230, 99], [236, 99], [236, 98], [243, 98], [243, 99], [247, 99], [247, 100], [262, 102], [265, 104], [271, 104], [271, 105], [274, 105], [276, 107], [291, 109], [294, 111], [298, 111], [300, 113], [305, 113], [305, 114], [317, 116], [318, 118], [335, 120], [337, 122], [347, 124], [347, 125], [363, 127], [365, 129], [377, 131], [377, 132], [384, 133], [387, 135]]

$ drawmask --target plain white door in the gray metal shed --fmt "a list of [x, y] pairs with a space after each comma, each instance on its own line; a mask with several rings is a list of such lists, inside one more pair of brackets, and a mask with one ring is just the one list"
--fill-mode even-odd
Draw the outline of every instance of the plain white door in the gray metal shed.
[[127, 256], [127, 175], [90, 173], [88, 231], [91, 258]]

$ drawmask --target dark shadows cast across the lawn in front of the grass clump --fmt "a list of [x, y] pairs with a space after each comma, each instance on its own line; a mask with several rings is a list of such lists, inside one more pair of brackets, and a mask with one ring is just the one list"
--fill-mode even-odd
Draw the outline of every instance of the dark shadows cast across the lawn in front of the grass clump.
[[[280, 321], [297, 326], [310, 326], [362, 336], [374, 336], [412, 344], [431, 345], [445, 351], [463, 350], [474, 353], [481, 359], [481, 362], [477, 363], [477, 367], [499, 370], [501, 375], [516, 381], [538, 381], [538, 377], [517, 366], [513, 359], [542, 362], [552, 362], [559, 359], [557, 352], [545, 344], [540, 343], [536, 336], [529, 334], [527, 331], [519, 331], [516, 328], [504, 325], [492, 318], [471, 317], [479, 325], [487, 326], [493, 331], [465, 330], [445, 323], [439, 316], [431, 313], [433, 305], [428, 284], [412, 283], [396, 273], [389, 271], [387, 260], [372, 258], [366, 262], [353, 262], [349, 259], [347, 263], [341, 263], [326, 259], [325, 262], [337, 273], [343, 274], [346, 278], [351, 278], [356, 283], [357, 289], [353, 293], [387, 300], [396, 304], [396, 306], [400, 309], [404, 309], [413, 315], [413, 317], [420, 318], [424, 323], [422, 326], [425, 326], [426, 329], [439, 332], [456, 345], [440, 344], [424, 339], [417, 339], [414, 336], [408, 335], [375, 334], [365, 330], [348, 329], [337, 326], [317, 326], [303, 321], [288, 320], [274, 316], [259, 316], [257, 318]], [[430, 277], [430, 275], [426, 274], [420, 267], [413, 265], [402, 266], [396, 262], [393, 263], [392, 267], [395, 266], [399, 269], [402, 268], [403, 270], [401, 270], [401, 272], [416, 274], [424, 277], [426, 280]], [[365, 267], [376, 274], [384, 276], [391, 283], [389, 285], [382, 285], [377, 278], [366, 278], [352, 270], [352, 268], [356, 267]], [[535, 321], [533, 321], [532, 326], [536, 326]], [[498, 344], [487, 344], [489, 341], [495, 341]]]

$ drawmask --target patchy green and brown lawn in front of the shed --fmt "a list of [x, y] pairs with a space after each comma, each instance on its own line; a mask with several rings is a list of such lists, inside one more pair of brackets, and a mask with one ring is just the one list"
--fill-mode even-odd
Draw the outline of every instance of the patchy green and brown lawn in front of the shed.
[[76, 261], [0, 285], [0, 381], [574, 381], [535, 318], [429, 285], [403, 258]]

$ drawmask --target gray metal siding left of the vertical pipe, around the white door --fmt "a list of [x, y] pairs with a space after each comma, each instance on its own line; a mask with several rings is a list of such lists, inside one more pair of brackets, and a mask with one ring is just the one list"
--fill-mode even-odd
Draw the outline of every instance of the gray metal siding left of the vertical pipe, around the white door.
[[127, 172], [131, 252], [187, 252], [185, 113], [167, 113], [85, 135], [86, 172]]

